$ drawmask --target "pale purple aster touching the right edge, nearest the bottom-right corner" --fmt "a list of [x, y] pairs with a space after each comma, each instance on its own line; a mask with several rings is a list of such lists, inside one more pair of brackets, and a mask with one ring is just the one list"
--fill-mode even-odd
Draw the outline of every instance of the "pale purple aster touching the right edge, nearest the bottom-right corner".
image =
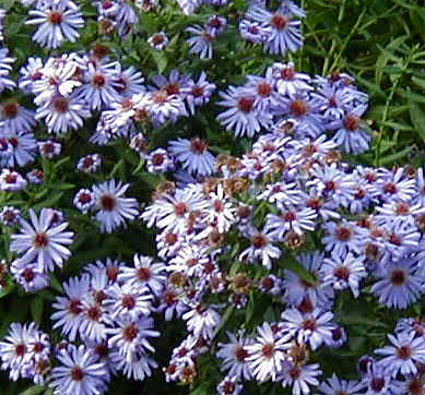
[[391, 346], [375, 350], [375, 354], [385, 356], [378, 361], [386, 372], [396, 378], [400, 372], [403, 375], [416, 374], [417, 363], [425, 363], [425, 339], [416, 337], [414, 333], [399, 333], [388, 335]]

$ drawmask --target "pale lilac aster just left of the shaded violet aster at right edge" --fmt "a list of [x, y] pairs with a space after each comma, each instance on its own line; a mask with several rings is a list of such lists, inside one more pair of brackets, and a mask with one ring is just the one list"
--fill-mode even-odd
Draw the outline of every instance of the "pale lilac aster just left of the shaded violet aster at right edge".
[[352, 253], [344, 259], [338, 254], [324, 259], [321, 273], [324, 286], [331, 286], [335, 290], [351, 288], [355, 298], [358, 297], [359, 282], [367, 276], [363, 258], [355, 258]]

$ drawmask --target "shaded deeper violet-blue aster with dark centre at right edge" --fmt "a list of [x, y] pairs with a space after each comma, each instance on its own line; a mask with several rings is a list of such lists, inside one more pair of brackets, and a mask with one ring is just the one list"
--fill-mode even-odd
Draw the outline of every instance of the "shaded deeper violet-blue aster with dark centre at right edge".
[[371, 292], [389, 308], [405, 309], [417, 300], [424, 290], [424, 275], [410, 258], [387, 263], [376, 276]]

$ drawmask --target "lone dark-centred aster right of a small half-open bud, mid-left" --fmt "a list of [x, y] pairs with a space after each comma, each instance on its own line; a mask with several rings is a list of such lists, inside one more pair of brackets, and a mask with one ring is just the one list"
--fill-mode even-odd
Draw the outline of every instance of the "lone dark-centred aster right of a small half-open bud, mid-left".
[[93, 185], [96, 219], [101, 224], [101, 231], [110, 234], [117, 227], [125, 225], [126, 219], [132, 220], [138, 215], [138, 202], [123, 194], [130, 184], [122, 184], [115, 179]]

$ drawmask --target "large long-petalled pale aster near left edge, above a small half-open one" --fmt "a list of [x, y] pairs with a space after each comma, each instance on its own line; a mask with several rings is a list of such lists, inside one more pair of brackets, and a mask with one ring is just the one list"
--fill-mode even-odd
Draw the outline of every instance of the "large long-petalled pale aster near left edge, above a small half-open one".
[[71, 256], [67, 246], [72, 243], [73, 232], [64, 231], [68, 223], [52, 225], [51, 210], [42, 208], [39, 217], [29, 210], [31, 224], [21, 220], [21, 234], [11, 236], [10, 250], [22, 254], [26, 261], [37, 261], [38, 267], [52, 272]]

